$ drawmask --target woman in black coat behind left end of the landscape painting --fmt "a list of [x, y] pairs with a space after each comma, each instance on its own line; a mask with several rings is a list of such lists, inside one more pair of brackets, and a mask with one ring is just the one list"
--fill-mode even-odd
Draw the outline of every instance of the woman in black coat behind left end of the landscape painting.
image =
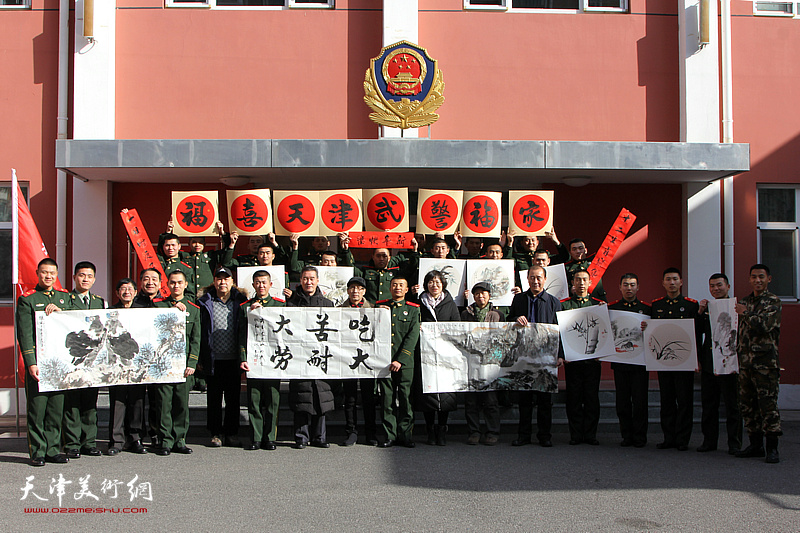
[[[438, 270], [431, 270], [425, 275], [423, 280], [425, 287], [420, 294], [420, 317], [422, 322], [458, 322], [461, 314], [458, 307], [445, 289], [447, 280]], [[425, 427], [428, 430], [428, 444], [444, 446], [447, 441], [447, 417], [450, 411], [457, 408], [456, 395], [452, 392], [422, 393], [422, 362], [419, 350], [417, 350], [417, 360], [414, 368], [418, 369], [418, 402], [417, 406], [425, 413]], [[436, 424], [436, 413], [439, 413], [439, 423]]]

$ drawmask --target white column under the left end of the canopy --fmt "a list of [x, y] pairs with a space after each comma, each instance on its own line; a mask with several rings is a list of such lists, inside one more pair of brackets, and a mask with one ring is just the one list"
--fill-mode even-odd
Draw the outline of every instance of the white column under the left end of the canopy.
[[[78, 261], [94, 263], [97, 277], [92, 292], [109, 301], [109, 305], [114, 299], [110, 251], [112, 187], [108, 181], [72, 180], [72, 263], [66, 269], [69, 277]], [[125, 246], [125, 242], [116, 245]]]

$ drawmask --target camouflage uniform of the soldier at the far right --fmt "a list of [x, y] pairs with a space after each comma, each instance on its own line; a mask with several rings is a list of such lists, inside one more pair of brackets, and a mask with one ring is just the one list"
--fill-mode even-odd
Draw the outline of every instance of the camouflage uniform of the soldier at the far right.
[[739, 315], [739, 401], [750, 436], [777, 437], [781, 431], [778, 413], [778, 340], [781, 332], [781, 301], [771, 292], [751, 293], [742, 299]]

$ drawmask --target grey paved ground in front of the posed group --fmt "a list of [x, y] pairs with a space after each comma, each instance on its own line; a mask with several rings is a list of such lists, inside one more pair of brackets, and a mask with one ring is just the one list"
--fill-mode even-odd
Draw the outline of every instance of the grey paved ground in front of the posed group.
[[[43, 468], [28, 465], [24, 440], [5, 438], [0, 523], [4, 531], [800, 531], [800, 422], [785, 432], [778, 465], [697, 453], [696, 426], [688, 452], [656, 450], [652, 425], [643, 449], [620, 448], [608, 432], [599, 447], [568, 446], [563, 429], [550, 449], [513, 448], [504, 434], [497, 447], [455, 435], [444, 448], [245, 452], [207, 448], [198, 436], [190, 456], [123, 453]], [[59, 475], [72, 482], [60, 505], [49, 492]], [[86, 476], [98, 501], [75, 500]], [[150, 484], [152, 501], [130, 501], [135, 476], [135, 486]], [[104, 480], [122, 483], [117, 499], [102, 492]], [[79, 505], [119, 513], [52, 511]], [[32, 507], [49, 511], [25, 512]]]

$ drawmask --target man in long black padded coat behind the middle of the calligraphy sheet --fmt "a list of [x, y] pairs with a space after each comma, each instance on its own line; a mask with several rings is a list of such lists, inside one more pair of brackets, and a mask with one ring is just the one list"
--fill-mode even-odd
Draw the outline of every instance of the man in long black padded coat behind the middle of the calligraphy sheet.
[[[287, 307], [333, 307], [333, 302], [317, 288], [319, 276], [313, 266], [300, 271], [300, 286], [286, 302]], [[289, 381], [289, 407], [294, 412], [294, 447], [328, 448], [325, 413], [333, 411], [333, 393], [327, 381], [293, 379]]]

